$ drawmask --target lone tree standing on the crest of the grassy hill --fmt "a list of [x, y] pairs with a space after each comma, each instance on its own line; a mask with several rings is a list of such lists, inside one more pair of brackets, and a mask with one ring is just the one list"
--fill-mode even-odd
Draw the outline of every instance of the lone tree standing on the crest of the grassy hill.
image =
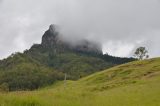
[[139, 60], [143, 60], [144, 58], [149, 58], [148, 51], [145, 47], [139, 47], [136, 49], [134, 56]]

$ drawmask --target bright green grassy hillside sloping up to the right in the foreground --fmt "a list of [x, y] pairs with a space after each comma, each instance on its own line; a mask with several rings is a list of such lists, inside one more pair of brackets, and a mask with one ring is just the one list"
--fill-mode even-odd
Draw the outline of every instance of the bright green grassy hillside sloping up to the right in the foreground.
[[0, 93], [1, 106], [160, 106], [160, 58], [37, 91]]

